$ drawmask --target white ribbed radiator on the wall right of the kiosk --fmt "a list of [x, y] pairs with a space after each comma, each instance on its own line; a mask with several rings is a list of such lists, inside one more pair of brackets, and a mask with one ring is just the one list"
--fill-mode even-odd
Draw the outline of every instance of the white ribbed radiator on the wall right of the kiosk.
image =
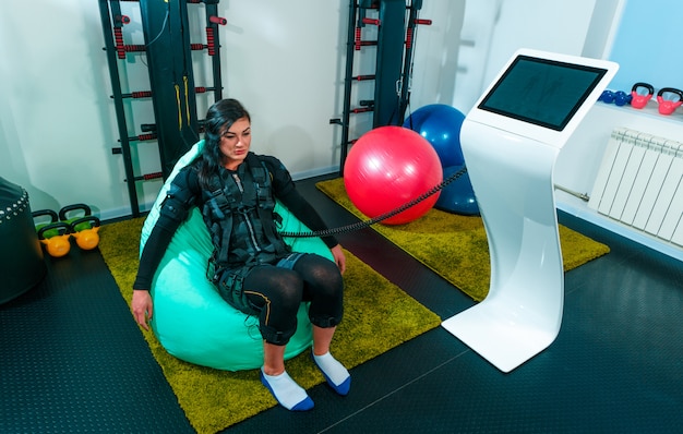
[[612, 131], [588, 206], [683, 245], [683, 144], [639, 131]]

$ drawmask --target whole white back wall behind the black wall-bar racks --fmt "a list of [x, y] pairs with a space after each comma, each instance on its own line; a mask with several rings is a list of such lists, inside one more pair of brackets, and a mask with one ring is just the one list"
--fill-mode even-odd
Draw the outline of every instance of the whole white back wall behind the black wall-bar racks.
[[[454, 4], [463, 2], [424, 2], [421, 17], [434, 25], [419, 28], [412, 108], [450, 103], [455, 63], [434, 58], [457, 53], [462, 14]], [[124, 43], [144, 44], [137, 4], [120, 4], [131, 16]], [[111, 152], [118, 131], [98, 8], [98, 1], [13, 1], [0, 14], [0, 176], [28, 191], [34, 210], [85, 203], [103, 218], [130, 214], [122, 158]], [[348, 8], [347, 0], [218, 5], [228, 20], [219, 33], [224, 97], [241, 99], [251, 111], [254, 150], [278, 156], [295, 177], [338, 170], [340, 128], [329, 119], [343, 110]], [[191, 40], [204, 43], [203, 4], [188, 9]], [[357, 68], [373, 73], [372, 49], [364, 51]], [[211, 84], [206, 58], [193, 53], [197, 86]], [[120, 62], [124, 93], [148, 89], [144, 55]], [[355, 92], [372, 98], [372, 88]], [[213, 103], [207, 95], [197, 97], [201, 118]], [[130, 135], [154, 122], [148, 100], [129, 100], [127, 111]], [[360, 135], [371, 116], [354, 122]], [[156, 146], [133, 145], [137, 174], [159, 170]], [[140, 203], [149, 205], [160, 182], [137, 184]]]

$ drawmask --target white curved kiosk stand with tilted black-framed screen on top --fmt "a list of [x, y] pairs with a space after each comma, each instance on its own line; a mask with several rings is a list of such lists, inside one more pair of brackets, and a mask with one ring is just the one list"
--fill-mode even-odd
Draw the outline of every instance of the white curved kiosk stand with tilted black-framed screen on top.
[[558, 336], [564, 270], [553, 167], [614, 76], [613, 62], [523, 49], [467, 114], [460, 144], [483, 218], [491, 285], [443, 327], [503, 372]]

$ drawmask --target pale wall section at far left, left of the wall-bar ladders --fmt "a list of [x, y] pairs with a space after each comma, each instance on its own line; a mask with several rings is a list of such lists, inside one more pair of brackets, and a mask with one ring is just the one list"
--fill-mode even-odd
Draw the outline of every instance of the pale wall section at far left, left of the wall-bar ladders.
[[32, 208], [127, 201], [97, 3], [12, 2], [0, 14], [0, 173]]

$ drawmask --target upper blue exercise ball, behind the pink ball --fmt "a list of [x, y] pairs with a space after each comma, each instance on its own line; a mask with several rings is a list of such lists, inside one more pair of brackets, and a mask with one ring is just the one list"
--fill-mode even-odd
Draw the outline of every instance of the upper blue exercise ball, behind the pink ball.
[[431, 104], [414, 111], [404, 122], [404, 126], [417, 131], [432, 144], [441, 166], [464, 165], [460, 148], [460, 128], [465, 114], [445, 104]]

